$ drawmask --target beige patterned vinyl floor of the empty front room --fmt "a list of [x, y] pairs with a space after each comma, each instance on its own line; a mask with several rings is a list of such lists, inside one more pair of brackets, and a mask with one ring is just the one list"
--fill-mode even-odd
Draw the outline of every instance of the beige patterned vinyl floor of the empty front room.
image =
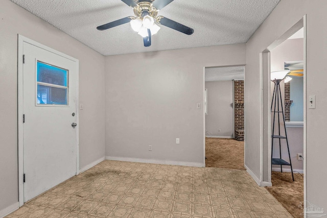
[[246, 171], [105, 160], [7, 216], [291, 217]]

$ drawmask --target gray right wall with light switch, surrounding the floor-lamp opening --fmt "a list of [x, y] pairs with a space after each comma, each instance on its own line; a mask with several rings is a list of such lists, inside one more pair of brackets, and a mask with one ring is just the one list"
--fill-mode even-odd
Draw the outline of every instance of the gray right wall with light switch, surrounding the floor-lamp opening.
[[[275, 40], [286, 33], [305, 14], [307, 14], [307, 99], [316, 95], [316, 109], [307, 107], [307, 200], [320, 208], [327, 208], [325, 201], [327, 174], [321, 166], [327, 165], [324, 135], [327, 116], [325, 93], [325, 72], [327, 67], [327, 29], [322, 28], [327, 19], [327, 2], [325, 0], [282, 0], [263, 22], [260, 28], [247, 42], [247, 65], [245, 66], [245, 164], [253, 174], [260, 178], [261, 144], [261, 75], [259, 54], [267, 49]], [[268, 80], [264, 81], [268, 88]], [[264, 105], [266, 109], [268, 105]]]

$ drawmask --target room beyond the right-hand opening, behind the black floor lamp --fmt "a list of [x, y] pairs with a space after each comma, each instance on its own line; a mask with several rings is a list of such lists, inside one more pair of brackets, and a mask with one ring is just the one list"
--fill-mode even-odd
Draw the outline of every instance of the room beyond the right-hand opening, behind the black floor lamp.
[[[276, 70], [289, 70], [286, 72], [286, 78], [281, 82], [283, 108], [279, 107], [279, 111], [284, 110], [288, 144], [285, 139], [281, 139], [281, 147], [279, 147], [278, 140], [274, 140], [272, 157], [285, 159], [291, 163], [292, 169], [290, 165], [273, 164], [272, 187], [267, 187], [267, 189], [283, 206], [289, 208], [293, 217], [302, 217], [299, 215], [301, 209], [296, 205], [303, 201], [303, 28], [278, 45], [270, 55], [271, 74]], [[271, 96], [274, 95], [274, 88], [274, 82], [271, 82]], [[272, 126], [274, 125], [273, 114], [271, 113]], [[276, 115], [275, 130], [278, 129], [277, 117]], [[279, 125], [283, 126], [284, 123], [279, 121]], [[284, 135], [284, 129], [280, 129], [281, 135]], [[277, 131], [274, 132], [271, 135], [278, 134]], [[288, 147], [291, 160], [288, 157]]]

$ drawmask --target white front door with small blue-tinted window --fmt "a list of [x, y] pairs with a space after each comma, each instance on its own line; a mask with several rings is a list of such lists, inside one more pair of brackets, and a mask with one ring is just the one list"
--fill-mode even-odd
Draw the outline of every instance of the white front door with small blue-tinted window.
[[24, 202], [76, 175], [78, 63], [23, 43]]

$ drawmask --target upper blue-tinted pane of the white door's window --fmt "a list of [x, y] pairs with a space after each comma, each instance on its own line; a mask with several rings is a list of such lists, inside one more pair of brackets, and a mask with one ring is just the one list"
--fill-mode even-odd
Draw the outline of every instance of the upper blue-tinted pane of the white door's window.
[[67, 86], [67, 70], [37, 62], [37, 82]]

